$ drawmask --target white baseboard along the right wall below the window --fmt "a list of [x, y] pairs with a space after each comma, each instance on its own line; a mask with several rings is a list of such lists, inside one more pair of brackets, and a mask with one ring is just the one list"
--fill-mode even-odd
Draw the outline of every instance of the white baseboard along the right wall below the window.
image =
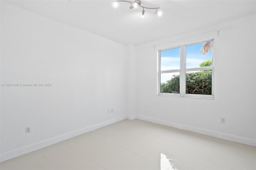
[[250, 145], [250, 146], [256, 146], [256, 140], [250, 139], [250, 138], [244, 138], [244, 137], [235, 136], [235, 135], [231, 135], [231, 134], [224, 134], [224, 133], [215, 132], [215, 131], [212, 131], [212, 130], [206, 130], [206, 129], [202, 129], [202, 128], [190, 127], [190, 126], [187, 126], [187, 125], [181, 125], [181, 124], [178, 124], [178, 123], [163, 121], [163, 120], [160, 120], [160, 119], [154, 119], [154, 118], [140, 116], [140, 115], [137, 115], [136, 118], [140, 119], [140, 120], [152, 122], [152, 123], [157, 123], [157, 124], [160, 124], [160, 125], [166, 125], [168, 127], [179, 128], [179, 129], [182, 129], [182, 130], [188, 130], [190, 132], [195, 132], [195, 133], [204, 134], [204, 135], [207, 135], [207, 136], [221, 138], [221, 139], [229, 140], [229, 141], [232, 141], [232, 142], [238, 142], [238, 143], [247, 144], [247, 145]]

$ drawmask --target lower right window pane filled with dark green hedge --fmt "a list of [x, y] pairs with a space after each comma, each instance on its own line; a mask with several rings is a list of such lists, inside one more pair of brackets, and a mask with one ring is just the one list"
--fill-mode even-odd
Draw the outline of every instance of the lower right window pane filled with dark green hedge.
[[212, 95], [212, 70], [186, 71], [186, 94]]

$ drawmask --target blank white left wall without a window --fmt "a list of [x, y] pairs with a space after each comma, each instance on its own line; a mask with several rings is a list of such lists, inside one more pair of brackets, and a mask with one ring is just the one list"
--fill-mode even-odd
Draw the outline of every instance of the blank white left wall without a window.
[[52, 84], [1, 87], [1, 161], [125, 119], [126, 51], [1, 2], [1, 83]]

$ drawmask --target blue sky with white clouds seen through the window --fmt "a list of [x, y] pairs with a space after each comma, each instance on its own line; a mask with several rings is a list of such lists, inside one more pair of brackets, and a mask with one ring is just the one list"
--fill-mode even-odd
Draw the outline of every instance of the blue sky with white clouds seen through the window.
[[[204, 43], [197, 43], [186, 46], [186, 68], [199, 67], [199, 64], [208, 59], [212, 59], [212, 49], [206, 55], [201, 55], [200, 50]], [[180, 48], [161, 51], [161, 71], [180, 69]], [[170, 80], [172, 75], [178, 73], [161, 74], [161, 83]]]

